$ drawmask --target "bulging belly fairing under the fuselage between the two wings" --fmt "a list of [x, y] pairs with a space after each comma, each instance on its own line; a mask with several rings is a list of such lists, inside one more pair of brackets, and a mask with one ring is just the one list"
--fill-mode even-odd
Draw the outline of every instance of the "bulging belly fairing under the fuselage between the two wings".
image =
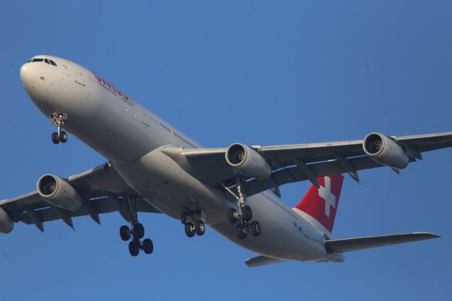
[[184, 208], [206, 213], [207, 224], [227, 221], [229, 201], [160, 151], [150, 151], [131, 165], [114, 165], [119, 174], [149, 203], [172, 218], [181, 218]]

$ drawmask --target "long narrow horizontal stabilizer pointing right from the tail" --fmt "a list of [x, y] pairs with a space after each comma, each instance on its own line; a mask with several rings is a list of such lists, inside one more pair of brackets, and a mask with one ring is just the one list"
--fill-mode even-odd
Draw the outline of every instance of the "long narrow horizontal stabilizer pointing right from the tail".
[[440, 236], [428, 232], [415, 232], [394, 235], [346, 238], [343, 240], [326, 240], [325, 248], [328, 250], [328, 252], [342, 253], [374, 247], [384, 247], [391, 244], [403, 244], [404, 242], [416, 242], [417, 240], [430, 240], [432, 238], [438, 237]]

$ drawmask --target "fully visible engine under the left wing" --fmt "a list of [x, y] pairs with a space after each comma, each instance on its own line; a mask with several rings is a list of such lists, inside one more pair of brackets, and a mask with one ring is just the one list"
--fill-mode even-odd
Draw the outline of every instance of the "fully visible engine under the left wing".
[[55, 175], [40, 177], [37, 181], [37, 192], [47, 203], [69, 211], [77, 211], [82, 205], [82, 198], [76, 189]]

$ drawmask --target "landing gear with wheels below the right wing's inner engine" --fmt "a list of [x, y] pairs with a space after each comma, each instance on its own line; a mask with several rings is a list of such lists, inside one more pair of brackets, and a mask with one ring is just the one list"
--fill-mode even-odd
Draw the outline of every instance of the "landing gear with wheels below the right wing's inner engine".
[[240, 179], [237, 179], [237, 191], [239, 196], [234, 194], [229, 188], [225, 187], [225, 189], [232, 194], [232, 196], [237, 199], [237, 208], [229, 208], [227, 211], [227, 220], [230, 223], [237, 223], [237, 236], [241, 239], [244, 239], [246, 235], [251, 233], [253, 236], [261, 235], [261, 224], [257, 220], [251, 221], [253, 218], [253, 211], [251, 211], [251, 207], [245, 205], [246, 203], [246, 194], [244, 191], [244, 187], [242, 186], [242, 182]]

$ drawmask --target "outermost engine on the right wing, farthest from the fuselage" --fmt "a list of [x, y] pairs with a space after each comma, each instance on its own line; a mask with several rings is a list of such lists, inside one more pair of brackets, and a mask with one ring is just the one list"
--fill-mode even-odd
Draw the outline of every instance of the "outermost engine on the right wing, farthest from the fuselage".
[[364, 153], [383, 165], [396, 168], [405, 168], [410, 159], [396, 141], [379, 133], [371, 133], [364, 138], [362, 143]]

